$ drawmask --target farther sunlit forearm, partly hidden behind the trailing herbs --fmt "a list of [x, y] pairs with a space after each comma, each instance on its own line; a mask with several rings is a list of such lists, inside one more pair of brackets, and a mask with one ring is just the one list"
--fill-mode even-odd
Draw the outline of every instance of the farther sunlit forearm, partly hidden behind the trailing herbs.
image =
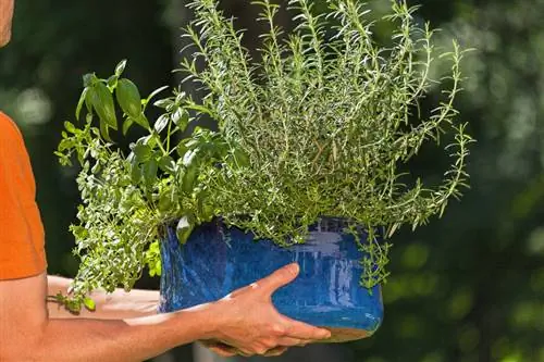
[[[48, 295], [54, 296], [59, 292], [65, 295], [67, 288], [72, 283], [71, 279], [48, 276]], [[66, 311], [64, 307], [49, 302], [48, 311], [50, 317], [65, 319], [65, 317], [83, 317], [83, 319], [97, 319], [97, 320], [120, 320], [131, 319], [138, 316], [148, 316], [157, 314], [157, 307], [159, 303], [159, 292], [154, 290], [132, 290], [125, 292], [123, 289], [116, 289], [113, 294], [104, 291], [94, 291], [90, 297], [96, 302], [96, 311], [89, 312], [82, 310], [78, 315], [74, 315]]]

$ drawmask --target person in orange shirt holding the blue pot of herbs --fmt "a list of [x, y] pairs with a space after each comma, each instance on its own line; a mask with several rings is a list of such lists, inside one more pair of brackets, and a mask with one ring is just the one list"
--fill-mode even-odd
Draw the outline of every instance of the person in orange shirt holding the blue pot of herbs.
[[[0, 47], [11, 36], [14, 0], [0, 0]], [[222, 355], [281, 354], [330, 337], [326, 329], [281, 315], [272, 294], [298, 265], [212, 303], [157, 314], [159, 294], [96, 292], [95, 312], [73, 315], [47, 296], [66, 294], [70, 280], [48, 276], [45, 233], [22, 135], [0, 112], [0, 361], [143, 361], [200, 340]]]

